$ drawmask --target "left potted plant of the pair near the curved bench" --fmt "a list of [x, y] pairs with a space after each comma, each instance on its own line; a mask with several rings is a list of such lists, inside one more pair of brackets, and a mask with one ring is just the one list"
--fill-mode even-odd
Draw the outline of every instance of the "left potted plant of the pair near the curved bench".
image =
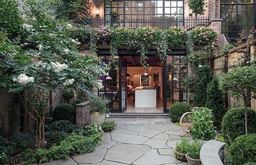
[[174, 156], [176, 159], [180, 161], [186, 160], [186, 153], [187, 153], [187, 147], [189, 146], [189, 140], [185, 139], [184, 137], [181, 138], [181, 142], [176, 143], [176, 147], [174, 149]]

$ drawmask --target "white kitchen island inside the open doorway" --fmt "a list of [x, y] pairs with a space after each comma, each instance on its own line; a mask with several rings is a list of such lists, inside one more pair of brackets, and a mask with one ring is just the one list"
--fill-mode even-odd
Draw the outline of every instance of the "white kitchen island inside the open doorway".
[[135, 90], [135, 108], [156, 108], [157, 88], [154, 86], [138, 86]]

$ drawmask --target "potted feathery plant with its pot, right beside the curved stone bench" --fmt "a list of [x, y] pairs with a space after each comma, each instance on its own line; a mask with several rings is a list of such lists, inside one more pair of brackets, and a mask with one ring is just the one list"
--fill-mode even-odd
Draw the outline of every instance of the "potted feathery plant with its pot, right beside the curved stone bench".
[[201, 165], [200, 149], [203, 145], [202, 140], [195, 139], [187, 147], [186, 159], [189, 165]]

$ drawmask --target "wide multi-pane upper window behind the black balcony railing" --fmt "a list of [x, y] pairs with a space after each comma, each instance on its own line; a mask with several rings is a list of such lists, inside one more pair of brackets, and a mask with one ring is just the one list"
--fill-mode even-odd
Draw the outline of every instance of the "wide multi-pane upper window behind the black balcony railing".
[[[183, 6], [183, 0], [113, 0], [105, 5], [105, 20], [122, 20], [118, 24], [129, 24], [133, 20], [182, 20]], [[133, 28], [140, 26], [143, 25], [138, 24]]]

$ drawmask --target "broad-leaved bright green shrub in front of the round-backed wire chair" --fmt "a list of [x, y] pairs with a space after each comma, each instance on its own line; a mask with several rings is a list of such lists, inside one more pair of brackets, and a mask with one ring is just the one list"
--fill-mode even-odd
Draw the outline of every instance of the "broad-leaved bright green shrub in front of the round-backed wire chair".
[[214, 139], [217, 132], [213, 126], [213, 113], [208, 108], [195, 109], [191, 116], [193, 139], [211, 140]]

